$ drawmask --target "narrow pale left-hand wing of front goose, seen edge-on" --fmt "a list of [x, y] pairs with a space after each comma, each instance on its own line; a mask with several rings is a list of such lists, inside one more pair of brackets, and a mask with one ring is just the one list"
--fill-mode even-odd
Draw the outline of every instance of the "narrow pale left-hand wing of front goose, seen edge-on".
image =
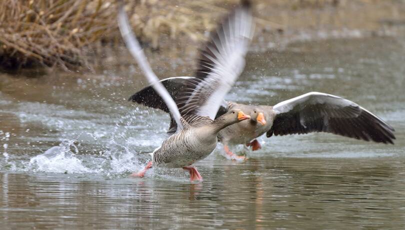
[[117, 19], [119, 31], [121, 32], [122, 38], [124, 39], [126, 47], [128, 48], [129, 52], [138, 62], [138, 65], [145, 74], [147, 81], [149, 81], [149, 84], [151, 84], [151, 86], [156, 90], [156, 92], [159, 93], [159, 95], [163, 98], [164, 102], [166, 103], [168, 109], [170, 110], [173, 118], [177, 123], [178, 126], [177, 130], [183, 128], [180, 122], [180, 112], [178, 111], [177, 105], [174, 102], [173, 98], [171, 98], [167, 90], [164, 88], [162, 83], [159, 81], [159, 78], [157, 78], [157, 76], [154, 74], [152, 68], [150, 67], [146, 59], [146, 56], [139, 45], [138, 40], [133, 35], [122, 2], [119, 4]]

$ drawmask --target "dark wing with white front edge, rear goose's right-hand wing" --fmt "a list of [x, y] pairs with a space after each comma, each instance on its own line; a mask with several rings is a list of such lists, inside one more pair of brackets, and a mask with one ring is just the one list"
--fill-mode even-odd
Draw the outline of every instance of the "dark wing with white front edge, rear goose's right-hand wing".
[[330, 132], [356, 139], [392, 143], [394, 129], [353, 101], [308, 92], [273, 106], [276, 116], [267, 137], [293, 133]]

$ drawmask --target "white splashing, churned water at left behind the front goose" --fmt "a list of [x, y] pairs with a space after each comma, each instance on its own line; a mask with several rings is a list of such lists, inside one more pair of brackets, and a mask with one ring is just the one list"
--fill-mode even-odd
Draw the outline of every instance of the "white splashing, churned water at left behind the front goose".
[[[14, 111], [21, 122], [40, 122], [50, 131], [57, 130], [46, 138], [58, 145], [50, 145], [43, 153], [33, 157], [20, 155], [10, 160], [6, 158], [1, 163], [6, 170], [97, 173], [108, 178], [127, 176], [141, 169], [149, 160], [145, 158], [150, 158], [147, 154], [138, 153], [153, 150], [165, 135], [165, 128], [158, 125], [161, 122], [151, 120], [167, 122], [166, 117], [150, 110], [139, 110], [138, 107], [126, 111], [123, 109], [123, 113], [114, 114], [116, 117], [111, 119], [109, 115], [89, 115], [82, 110], [66, 109], [59, 105], [49, 105], [45, 109], [39, 102], [22, 103], [35, 109]], [[40, 116], [43, 110], [47, 111], [45, 119]], [[80, 119], [74, 114], [79, 114]], [[143, 119], [143, 116], [148, 119]], [[1, 140], [6, 141], [8, 137], [9, 133], [0, 135]], [[7, 154], [7, 145], [1, 146]]]

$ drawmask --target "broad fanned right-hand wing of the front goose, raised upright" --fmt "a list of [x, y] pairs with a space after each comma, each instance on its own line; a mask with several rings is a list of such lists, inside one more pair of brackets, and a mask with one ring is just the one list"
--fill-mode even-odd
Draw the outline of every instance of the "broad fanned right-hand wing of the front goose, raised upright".
[[244, 68], [253, 27], [250, 2], [244, 0], [211, 32], [200, 50], [196, 78], [188, 79], [177, 97], [182, 115], [215, 118], [225, 94]]

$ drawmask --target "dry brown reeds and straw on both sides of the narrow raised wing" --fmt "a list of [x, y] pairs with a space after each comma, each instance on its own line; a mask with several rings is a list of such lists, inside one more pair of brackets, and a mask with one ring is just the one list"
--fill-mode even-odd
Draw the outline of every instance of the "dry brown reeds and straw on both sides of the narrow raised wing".
[[[200, 39], [201, 30], [213, 27], [212, 12], [226, 11], [209, 1], [178, 7], [180, 0], [128, 0], [126, 8], [137, 35], [157, 47], [160, 33]], [[209, 9], [198, 10], [203, 6]], [[115, 18], [114, 0], [3, 0], [0, 65], [90, 66], [86, 57], [96, 51], [96, 43], [120, 41]]]

